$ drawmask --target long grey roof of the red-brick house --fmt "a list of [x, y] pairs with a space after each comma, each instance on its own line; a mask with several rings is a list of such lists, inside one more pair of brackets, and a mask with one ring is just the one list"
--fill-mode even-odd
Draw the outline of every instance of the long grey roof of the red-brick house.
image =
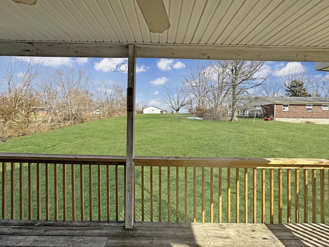
[[329, 104], [329, 97], [255, 97], [252, 105], [307, 103]]

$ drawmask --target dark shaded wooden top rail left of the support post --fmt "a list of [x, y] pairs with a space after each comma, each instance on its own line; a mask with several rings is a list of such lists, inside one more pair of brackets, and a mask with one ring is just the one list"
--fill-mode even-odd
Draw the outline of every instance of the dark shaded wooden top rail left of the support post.
[[0, 162], [125, 165], [125, 156], [42, 154], [42, 153], [0, 153]]

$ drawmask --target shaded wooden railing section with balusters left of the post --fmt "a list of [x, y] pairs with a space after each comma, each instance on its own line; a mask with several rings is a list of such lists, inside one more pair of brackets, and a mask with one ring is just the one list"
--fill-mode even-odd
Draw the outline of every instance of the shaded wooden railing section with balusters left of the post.
[[1, 154], [3, 219], [124, 220], [123, 156]]

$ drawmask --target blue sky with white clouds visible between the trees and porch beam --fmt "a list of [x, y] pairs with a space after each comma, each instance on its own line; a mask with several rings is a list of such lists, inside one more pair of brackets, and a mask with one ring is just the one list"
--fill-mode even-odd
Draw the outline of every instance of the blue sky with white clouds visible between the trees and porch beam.
[[[17, 61], [20, 60], [17, 57], [15, 59]], [[6, 60], [8, 60], [8, 57], [0, 57], [1, 77], [3, 77], [3, 68]], [[127, 73], [111, 71], [117, 64], [127, 63], [125, 58], [42, 58], [42, 60], [44, 60], [46, 69], [73, 66], [76, 69], [84, 70], [93, 79], [95, 89], [102, 81], [116, 81], [126, 88]], [[190, 68], [195, 67], [196, 64], [204, 63], [207, 65], [210, 62], [210, 60], [138, 58], [136, 101], [166, 109], [164, 86], [181, 82], [183, 80], [182, 76], [187, 75]], [[294, 69], [302, 70], [312, 77], [329, 77], [329, 73], [317, 72], [314, 62], [266, 62], [265, 65], [270, 70], [276, 70], [270, 81], [278, 81], [280, 75]], [[0, 83], [4, 85], [6, 82], [1, 80]]]

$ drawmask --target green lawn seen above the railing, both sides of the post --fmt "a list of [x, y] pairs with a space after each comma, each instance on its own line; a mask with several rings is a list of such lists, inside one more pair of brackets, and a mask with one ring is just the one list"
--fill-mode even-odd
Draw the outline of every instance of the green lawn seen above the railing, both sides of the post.
[[[256, 119], [205, 121], [185, 114], [136, 115], [139, 156], [327, 158], [327, 125]], [[0, 152], [125, 155], [126, 117], [22, 136]]]

